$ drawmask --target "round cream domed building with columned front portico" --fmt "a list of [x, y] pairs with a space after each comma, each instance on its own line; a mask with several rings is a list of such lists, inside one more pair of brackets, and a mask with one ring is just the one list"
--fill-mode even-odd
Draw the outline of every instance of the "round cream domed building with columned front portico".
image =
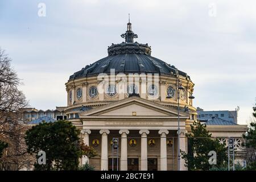
[[[125, 42], [109, 46], [107, 57], [69, 77], [67, 118], [96, 149], [89, 163], [97, 170], [176, 170], [178, 145], [187, 151], [185, 133], [197, 120], [195, 84], [151, 56], [148, 44], [134, 42], [130, 21], [121, 37]], [[186, 170], [183, 159], [180, 169]]]

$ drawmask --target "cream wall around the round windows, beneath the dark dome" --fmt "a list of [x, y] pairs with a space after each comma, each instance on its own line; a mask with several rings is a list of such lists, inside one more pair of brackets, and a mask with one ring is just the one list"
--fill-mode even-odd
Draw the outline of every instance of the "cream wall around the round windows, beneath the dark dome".
[[[139, 88], [139, 92], [140, 92], [140, 96], [141, 98], [145, 98], [148, 100], [155, 100], [155, 101], [162, 101], [162, 102], [166, 102], [167, 104], [170, 103], [171, 105], [173, 104], [177, 104], [177, 89], [176, 89], [176, 83], [177, 83], [177, 78], [176, 77], [170, 77], [170, 76], [159, 76], [159, 80], [157, 80], [157, 82], [159, 83], [159, 96], [156, 98], [152, 98], [150, 96], [148, 96], [147, 94], [147, 88], [150, 84], [154, 84], [154, 79], [152, 82], [147, 82], [147, 80], [145, 80], [147, 78], [147, 76], [145, 75], [144, 77], [139, 78], [138, 76], [134, 76], [134, 80], [135, 84], [138, 86]], [[154, 76], [153, 76], [154, 78]], [[190, 80], [187, 80], [185, 77], [180, 76], [180, 80], [181, 80], [181, 84], [182, 86], [185, 88], [186, 90], [186, 97], [187, 99], [185, 101], [180, 100], [180, 104], [182, 105], [187, 105], [189, 106], [189, 101], [188, 101], [188, 96], [189, 93], [188, 92], [193, 92], [193, 82]], [[115, 82], [115, 84], [117, 85], [117, 81]], [[100, 101], [117, 101], [117, 100], [122, 100], [123, 98], [127, 98], [128, 94], [116, 94], [114, 97], [109, 97], [107, 94], [98, 94], [98, 96], [96, 98], [90, 98], [88, 97], [88, 90], [91, 86], [97, 86], [98, 85], [98, 81], [97, 81], [97, 77], [89, 77], [89, 78], [80, 78], [77, 80], [72, 80], [67, 82], [66, 84], [66, 90], [67, 93], [69, 93], [69, 90], [73, 90], [73, 99], [76, 102], [76, 104], [90, 104], [93, 102], [100, 102]], [[146, 85], [145, 88], [143, 87], [143, 85]], [[167, 99], [166, 98], [166, 89], [168, 88], [168, 86], [172, 86], [175, 89], [175, 96], [174, 98], [171, 99]], [[76, 90], [78, 88], [82, 88], [82, 99], [81, 100], [77, 100], [76, 98]], [[144, 92], [144, 93], [142, 93]], [[67, 94], [68, 97], [68, 94]], [[70, 102], [68, 102], [68, 106], [72, 106], [70, 104]], [[195, 108], [192, 107], [193, 110], [196, 110]]]

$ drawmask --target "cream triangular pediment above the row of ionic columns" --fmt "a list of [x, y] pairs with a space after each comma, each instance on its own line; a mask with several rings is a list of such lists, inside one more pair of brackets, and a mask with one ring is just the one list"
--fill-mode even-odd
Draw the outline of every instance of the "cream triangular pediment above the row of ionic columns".
[[[79, 114], [84, 117], [177, 117], [177, 110], [148, 101], [140, 97], [130, 97]], [[180, 112], [181, 118], [188, 118], [188, 113]]]

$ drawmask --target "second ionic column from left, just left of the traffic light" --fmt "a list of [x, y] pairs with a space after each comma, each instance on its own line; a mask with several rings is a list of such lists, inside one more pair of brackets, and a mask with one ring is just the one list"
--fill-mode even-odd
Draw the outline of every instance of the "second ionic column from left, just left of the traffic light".
[[108, 134], [109, 130], [100, 130], [101, 134], [101, 171], [108, 171]]

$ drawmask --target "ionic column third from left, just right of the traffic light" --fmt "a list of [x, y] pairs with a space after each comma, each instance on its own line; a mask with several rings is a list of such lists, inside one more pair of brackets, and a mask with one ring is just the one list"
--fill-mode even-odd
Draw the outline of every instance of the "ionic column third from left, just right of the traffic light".
[[119, 130], [121, 134], [121, 171], [127, 171], [127, 135], [129, 130]]

